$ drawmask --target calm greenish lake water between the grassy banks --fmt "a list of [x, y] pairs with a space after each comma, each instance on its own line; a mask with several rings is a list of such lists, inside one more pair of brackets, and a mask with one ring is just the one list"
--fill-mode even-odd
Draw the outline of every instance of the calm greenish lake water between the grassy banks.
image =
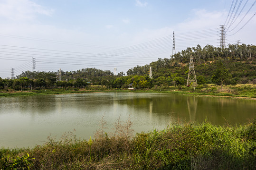
[[[256, 101], [163, 93], [84, 93], [0, 98], [0, 147], [33, 147], [47, 136], [57, 139], [76, 129], [76, 136], [94, 136], [104, 116], [106, 131], [131, 118], [135, 132], [166, 128], [181, 121], [214, 125], [244, 124], [256, 116]], [[225, 119], [224, 119], [225, 118]]]

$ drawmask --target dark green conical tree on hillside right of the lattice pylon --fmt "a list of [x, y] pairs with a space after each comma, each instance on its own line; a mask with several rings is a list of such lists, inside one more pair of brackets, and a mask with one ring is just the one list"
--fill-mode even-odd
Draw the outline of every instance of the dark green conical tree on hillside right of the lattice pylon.
[[217, 85], [222, 85], [227, 83], [227, 81], [232, 78], [232, 75], [228, 73], [228, 69], [223, 66], [221, 60], [217, 61], [217, 69], [214, 75], [212, 75], [211, 81]]

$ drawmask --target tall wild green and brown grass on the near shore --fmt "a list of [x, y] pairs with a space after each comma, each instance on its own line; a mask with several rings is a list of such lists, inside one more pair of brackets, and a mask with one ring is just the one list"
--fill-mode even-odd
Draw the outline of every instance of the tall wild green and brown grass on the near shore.
[[[104, 123], [103, 123], [104, 124]], [[34, 157], [31, 170], [253, 170], [256, 167], [256, 119], [243, 126], [171, 125], [148, 133], [132, 133], [131, 122], [104, 126], [93, 140], [73, 133], [34, 148], [0, 149], [0, 170], [15, 156]]]

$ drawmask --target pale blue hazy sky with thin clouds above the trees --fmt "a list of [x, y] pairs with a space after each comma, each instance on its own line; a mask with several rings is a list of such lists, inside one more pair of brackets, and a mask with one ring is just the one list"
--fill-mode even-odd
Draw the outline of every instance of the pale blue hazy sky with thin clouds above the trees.
[[241, 40], [256, 45], [256, 17], [244, 26], [256, 12], [254, 3], [0, 0], [0, 77], [10, 77], [11, 68], [15, 76], [32, 71], [32, 58], [36, 71], [116, 67], [126, 74], [134, 66], [170, 58], [173, 31], [176, 52], [197, 44], [219, 46], [219, 25], [224, 24], [230, 26], [226, 44]]

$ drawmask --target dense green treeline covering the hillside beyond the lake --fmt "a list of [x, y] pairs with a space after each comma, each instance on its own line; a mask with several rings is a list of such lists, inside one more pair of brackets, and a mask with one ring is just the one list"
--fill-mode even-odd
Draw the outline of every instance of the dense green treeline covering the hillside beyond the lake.
[[[22, 72], [16, 79], [1, 79], [0, 89], [23, 90], [44, 88], [85, 88], [87, 85], [104, 85], [106, 88], [127, 88], [133, 83], [137, 89], [185, 85], [189, 72], [190, 55], [193, 56], [198, 84], [217, 85], [256, 84], [256, 46], [229, 44], [222, 49], [207, 45], [187, 48], [171, 56], [159, 58], [145, 66], [136, 66], [114, 76], [110, 70], [82, 68], [77, 71]], [[152, 67], [153, 78], [149, 78]], [[219, 75], [218, 73], [225, 74]], [[220, 80], [220, 76], [225, 78]]]

